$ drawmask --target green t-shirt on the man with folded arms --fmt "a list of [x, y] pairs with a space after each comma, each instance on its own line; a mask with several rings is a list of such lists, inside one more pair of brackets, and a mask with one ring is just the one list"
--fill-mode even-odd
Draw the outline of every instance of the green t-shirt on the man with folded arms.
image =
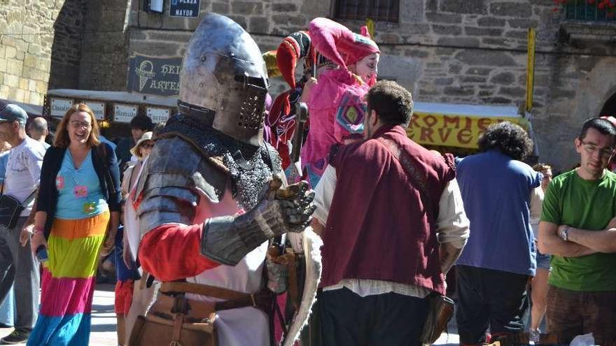
[[[616, 174], [583, 180], [575, 169], [549, 184], [541, 221], [603, 231], [616, 215]], [[552, 256], [549, 284], [570, 291], [616, 291], [616, 254], [582, 257]]]

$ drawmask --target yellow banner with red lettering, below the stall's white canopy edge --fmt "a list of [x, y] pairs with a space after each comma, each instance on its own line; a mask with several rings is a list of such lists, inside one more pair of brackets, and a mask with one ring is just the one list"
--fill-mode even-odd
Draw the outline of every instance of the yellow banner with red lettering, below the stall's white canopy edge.
[[414, 112], [407, 128], [407, 134], [419, 144], [477, 148], [477, 140], [487, 127], [505, 121], [526, 127], [526, 120], [520, 117], [480, 117]]

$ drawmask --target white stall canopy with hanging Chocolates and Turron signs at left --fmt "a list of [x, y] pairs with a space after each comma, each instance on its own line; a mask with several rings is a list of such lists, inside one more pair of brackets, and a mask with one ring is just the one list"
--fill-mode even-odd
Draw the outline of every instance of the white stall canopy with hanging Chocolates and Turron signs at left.
[[47, 92], [43, 114], [62, 117], [73, 103], [90, 106], [100, 121], [127, 123], [137, 115], [147, 115], [152, 122], [165, 122], [177, 108], [176, 97], [155, 96], [138, 92], [103, 92], [96, 90], [53, 89]]

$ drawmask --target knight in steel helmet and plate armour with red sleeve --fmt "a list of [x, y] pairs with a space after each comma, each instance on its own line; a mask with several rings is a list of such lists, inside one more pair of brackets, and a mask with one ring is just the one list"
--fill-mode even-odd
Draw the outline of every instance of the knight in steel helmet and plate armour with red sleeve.
[[267, 87], [251, 36], [205, 16], [183, 57], [179, 113], [135, 192], [139, 261], [162, 284], [131, 345], [270, 344], [268, 240], [304, 231], [314, 192], [281, 187], [279, 155], [262, 139]]

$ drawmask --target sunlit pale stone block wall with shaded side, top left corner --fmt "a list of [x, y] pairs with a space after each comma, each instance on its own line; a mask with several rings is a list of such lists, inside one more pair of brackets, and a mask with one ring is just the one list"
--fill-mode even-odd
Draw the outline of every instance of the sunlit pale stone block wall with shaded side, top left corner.
[[48, 84], [76, 87], [83, 0], [0, 5], [0, 98], [40, 105]]

